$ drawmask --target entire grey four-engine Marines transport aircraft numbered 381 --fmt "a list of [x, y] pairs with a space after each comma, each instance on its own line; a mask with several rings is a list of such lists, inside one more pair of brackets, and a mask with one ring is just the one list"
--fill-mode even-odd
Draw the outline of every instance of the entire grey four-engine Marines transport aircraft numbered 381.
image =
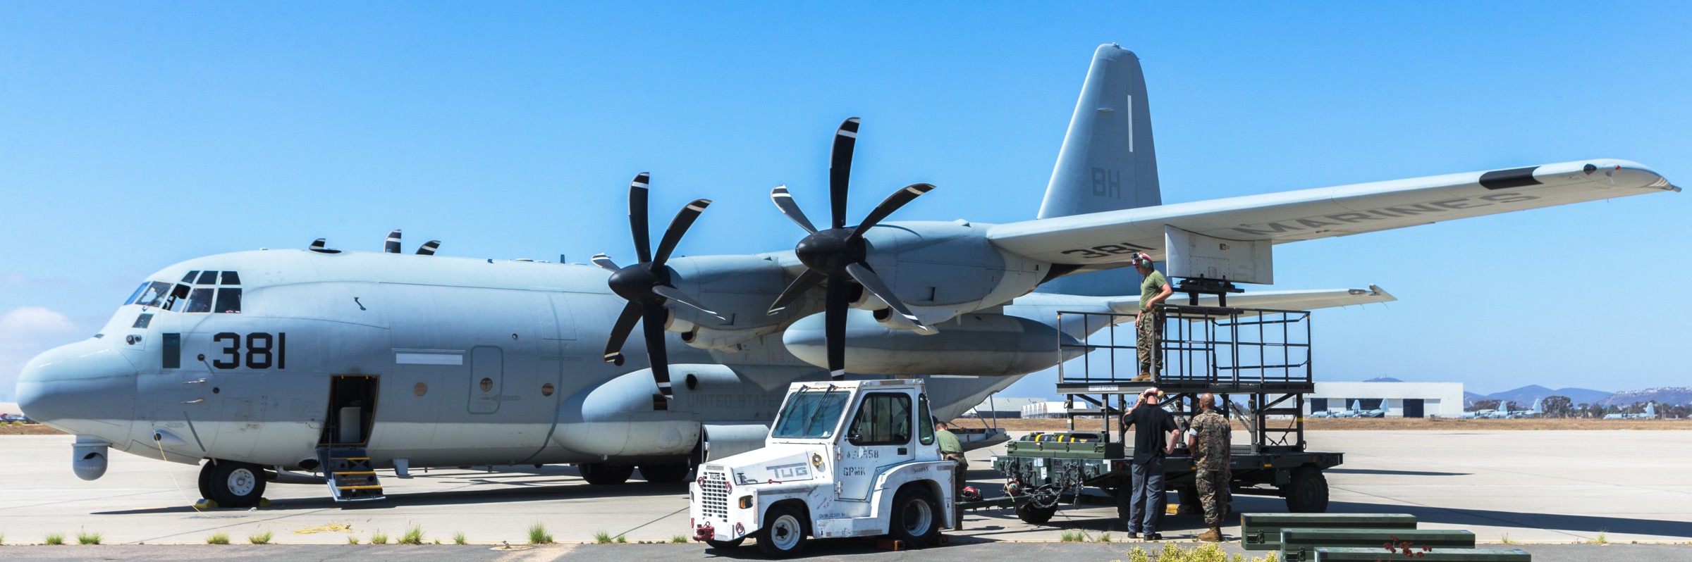
[[320, 240], [191, 259], [149, 276], [95, 337], [30, 361], [20, 406], [76, 435], [85, 479], [108, 449], [206, 460], [200, 489], [223, 506], [310, 481], [299, 471], [323, 472], [337, 499], [381, 498], [377, 469], [577, 464], [594, 484], [634, 467], [678, 481], [697, 459], [758, 447], [794, 381], [926, 376], [932, 413], [956, 416], [1088, 337], [1059, 333], [1059, 310], [1132, 311], [1135, 296], [1059, 293], [1135, 252], [1267, 283], [1274, 244], [1678, 191], [1645, 166], [1587, 159], [1162, 205], [1140, 64], [1113, 44], [1093, 56], [1034, 220], [885, 222], [932, 190], [917, 183], [851, 223], [856, 135], [856, 118], [836, 132], [824, 223], [772, 193], [805, 232], [790, 251], [672, 257], [706, 200], [653, 249], [641, 174], [634, 264], [621, 267], [433, 256], [438, 242], [403, 254], [398, 232], [384, 252]]

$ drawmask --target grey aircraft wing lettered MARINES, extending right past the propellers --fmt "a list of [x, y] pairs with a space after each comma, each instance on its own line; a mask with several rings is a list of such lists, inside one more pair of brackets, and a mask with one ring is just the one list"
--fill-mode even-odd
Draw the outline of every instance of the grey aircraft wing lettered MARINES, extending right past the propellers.
[[1680, 188], [1638, 163], [1596, 159], [1024, 220], [986, 237], [1044, 262], [1095, 266], [1134, 252], [1162, 261], [1164, 225], [1284, 244], [1656, 191]]

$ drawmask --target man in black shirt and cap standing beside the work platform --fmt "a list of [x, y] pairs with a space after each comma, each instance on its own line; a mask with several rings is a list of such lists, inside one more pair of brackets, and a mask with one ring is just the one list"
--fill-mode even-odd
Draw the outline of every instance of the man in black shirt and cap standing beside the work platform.
[[[1162, 481], [1164, 455], [1174, 450], [1181, 428], [1169, 411], [1157, 406], [1161, 399], [1161, 391], [1147, 388], [1140, 393], [1139, 405], [1122, 415], [1122, 428], [1134, 427], [1134, 486], [1125, 489], [1129, 538], [1139, 538], [1140, 532], [1145, 533], [1145, 540], [1162, 538], [1157, 535], [1157, 525], [1162, 523], [1167, 504]], [[1123, 491], [1117, 491], [1118, 515], [1123, 515], [1122, 499]]]

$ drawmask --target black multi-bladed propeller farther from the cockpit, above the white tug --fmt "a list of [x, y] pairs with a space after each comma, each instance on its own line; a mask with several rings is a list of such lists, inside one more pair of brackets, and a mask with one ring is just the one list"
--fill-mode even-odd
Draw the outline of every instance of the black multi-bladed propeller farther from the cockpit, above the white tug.
[[782, 210], [782, 215], [787, 215], [788, 220], [797, 223], [807, 234], [802, 240], [799, 240], [799, 245], [794, 247], [794, 254], [797, 254], [799, 261], [805, 264], [805, 273], [799, 274], [799, 278], [775, 298], [775, 303], [770, 305], [770, 313], [773, 315], [782, 311], [787, 305], [799, 298], [799, 295], [804, 295], [819, 283], [827, 281], [822, 320], [826, 327], [824, 335], [827, 339], [829, 376], [836, 381], [846, 377], [846, 308], [851, 305], [851, 288], [848, 286], [848, 281], [856, 281], [870, 291], [870, 295], [875, 295], [887, 303], [887, 306], [895, 313], [905, 317], [905, 320], [910, 320], [910, 323], [919, 328], [927, 328], [927, 325], [924, 325], [917, 315], [912, 315], [910, 308], [907, 308], [905, 303], [887, 288], [887, 283], [882, 283], [882, 278], [875, 274], [875, 269], [865, 262], [868, 247], [865, 245], [863, 234], [900, 207], [905, 207], [905, 203], [929, 193], [934, 186], [927, 183], [914, 183], [900, 188], [898, 191], [893, 191], [893, 195], [888, 195], [882, 205], [876, 205], [875, 210], [871, 210], [870, 215], [865, 217], [856, 227], [846, 227], [846, 195], [851, 185], [851, 154], [853, 147], [858, 144], [858, 122], [860, 120], [856, 117], [848, 118], [838, 130], [834, 130], [834, 147], [829, 154], [831, 222], [827, 230], [817, 230], [817, 227], [810, 223], [810, 218], [805, 218], [805, 212], [799, 210], [799, 205], [794, 203], [794, 195], [787, 191], [787, 186], [777, 186], [770, 191], [770, 200], [775, 201], [775, 208]]

